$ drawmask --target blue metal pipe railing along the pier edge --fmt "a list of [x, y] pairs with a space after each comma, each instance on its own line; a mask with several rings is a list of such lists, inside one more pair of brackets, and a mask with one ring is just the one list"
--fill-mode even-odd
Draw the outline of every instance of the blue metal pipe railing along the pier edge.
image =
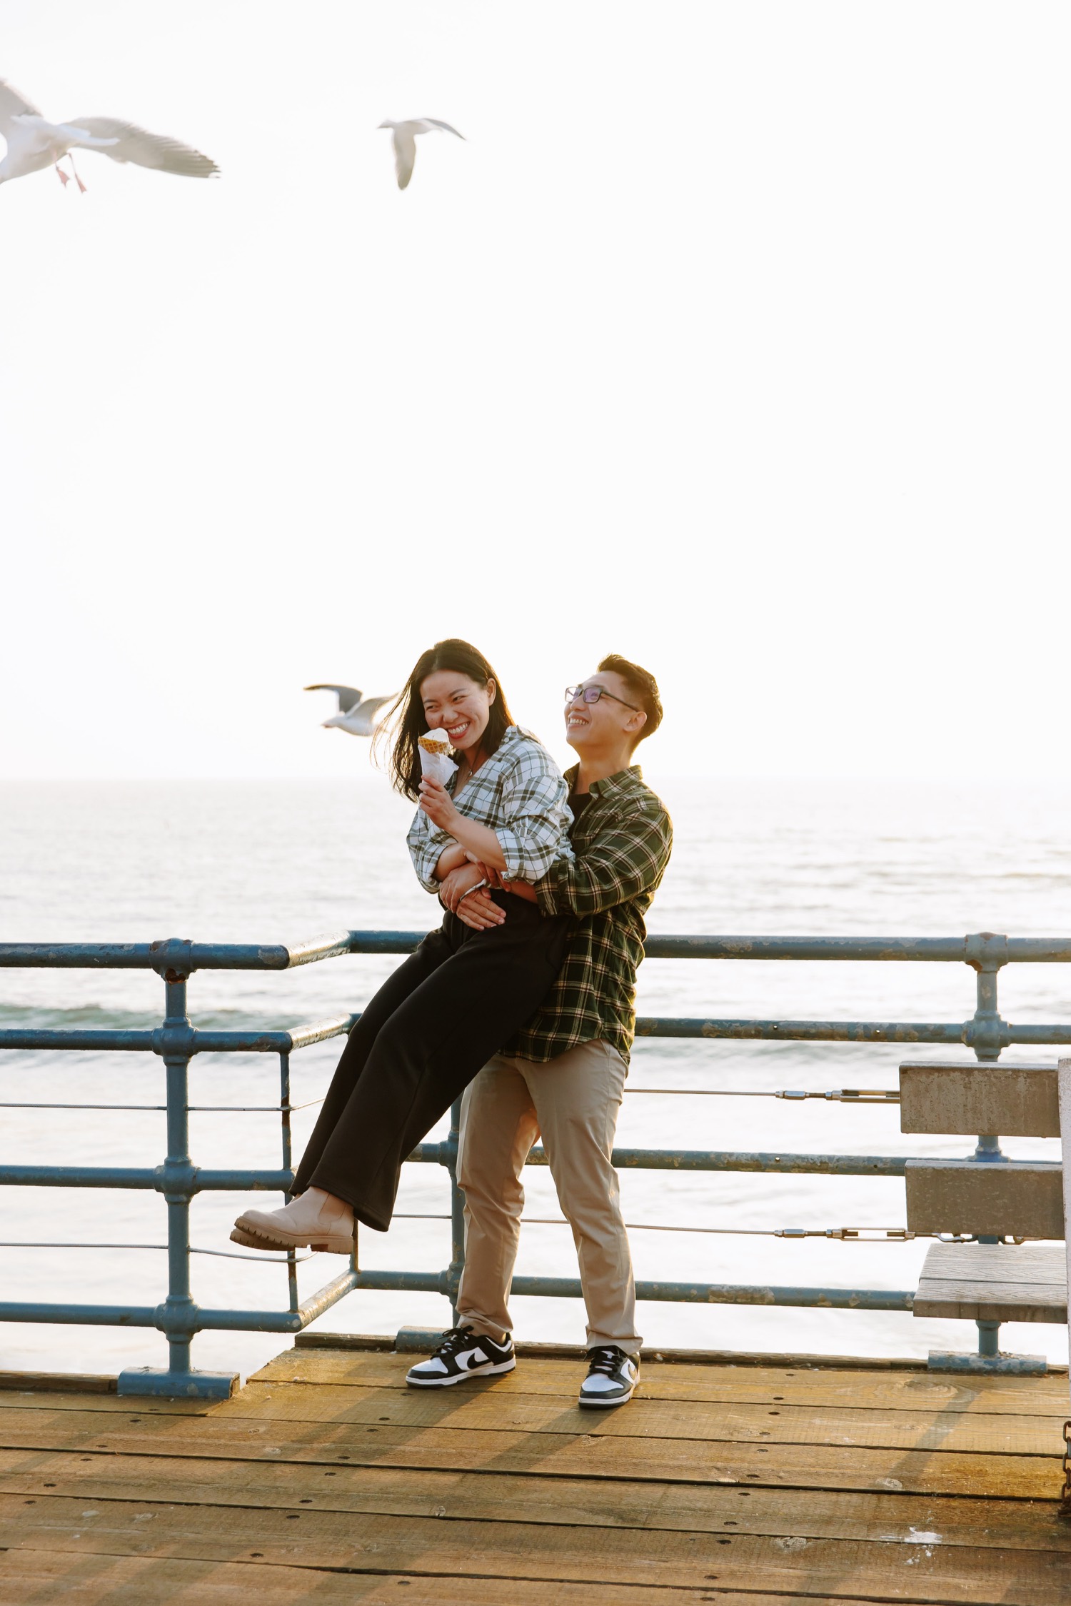
[[[156, 1168], [120, 1166], [0, 1166], [6, 1187], [153, 1188], [167, 1201], [169, 1290], [156, 1306], [43, 1304], [2, 1301], [3, 1322], [61, 1322], [114, 1327], [154, 1327], [169, 1343], [165, 1370], [130, 1370], [119, 1380], [124, 1394], [193, 1394], [214, 1397], [231, 1389], [230, 1373], [194, 1372], [191, 1339], [198, 1331], [297, 1333], [323, 1315], [347, 1293], [368, 1290], [438, 1293], [456, 1299], [464, 1264], [464, 1200], [458, 1188], [458, 1113], [454, 1105], [446, 1139], [421, 1143], [414, 1161], [442, 1164], [451, 1185], [451, 1262], [440, 1272], [358, 1272], [350, 1262], [342, 1275], [310, 1299], [297, 1298], [295, 1256], [286, 1256], [289, 1301], [286, 1310], [207, 1309], [189, 1288], [189, 1201], [206, 1190], [281, 1190], [292, 1182], [289, 1057], [297, 1049], [347, 1033], [358, 1015], [337, 1015], [294, 1031], [201, 1031], [186, 1013], [186, 984], [196, 970], [292, 970], [297, 965], [342, 954], [408, 954], [422, 931], [342, 931], [297, 948], [281, 944], [189, 943], [5, 943], [0, 967], [154, 970], [164, 981], [164, 1021], [153, 1031], [136, 1029], [0, 1029], [5, 1050], [124, 1050], [156, 1054], [165, 1068], [167, 1156]], [[976, 1007], [965, 1021], [812, 1021], [812, 1020], [678, 1020], [645, 1017], [637, 1021], [644, 1037], [766, 1039], [804, 1042], [901, 1042], [965, 1046], [979, 1060], [996, 1060], [1008, 1044], [1068, 1044], [1071, 1025], [1013, 1026], [997, 1009], [997, 975], [1007, 964], [1068, 964], [1071, 941], [1007, 938], [989, 931], [965, 938], [795, 938], [795, 936], [650, 936], [649, 959], [751, 959], [751, 960], [896, 960], [965, 964], [976, 972]], [[189, 1156], [189, 1060], [196, 1054], [278, 1054], [281, 1166], [278, 1169], [204, 1169]], [[999, 1139], [981, 1134], [978, 1160], [1002, 1160]], [[530, 1155], [543, 1164], [543, 1150]], [[716, 1150], [617, 1148], [613, 1163], [641, 1171], [768, 1171], [819, 1176], [902, 1176], [906, 1156], [896, 1155], [772, 1155]], [[570, 1277], [515, 1277], [515, 1294], [580, 1296], [580, 1280]], [[851, 1310], [910, 1310], [914, 1294], [878, 1288], [751, 1286], [735, 1283], [639, 1282], [639, 1299], [702, 1304], [819, 1306]], [[992, 1335], [988, 1336], [988, 1346]]]

